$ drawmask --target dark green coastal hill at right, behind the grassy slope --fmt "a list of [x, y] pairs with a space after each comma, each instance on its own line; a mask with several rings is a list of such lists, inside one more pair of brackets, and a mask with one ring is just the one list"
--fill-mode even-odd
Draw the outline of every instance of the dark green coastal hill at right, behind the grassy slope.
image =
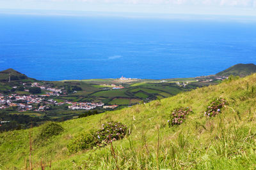
[[236, 64], [220, 73], [217, 73], [216, 76], [230, 76], [231, 74], [234, 76], [248, 76], [250, 74], [256, 73], [256, 65], [255, 64]]

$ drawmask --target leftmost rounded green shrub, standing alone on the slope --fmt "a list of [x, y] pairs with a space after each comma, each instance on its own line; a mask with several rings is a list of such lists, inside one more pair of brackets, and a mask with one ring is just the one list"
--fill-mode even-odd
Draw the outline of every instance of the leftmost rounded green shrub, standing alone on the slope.
[[55, 122], [47, 122], [41, 126], [40, 134], [38, 136], [39, 139], [49, 139], [52, 136], [56, 136], [63, 132], [64, 129], [61, 125]]

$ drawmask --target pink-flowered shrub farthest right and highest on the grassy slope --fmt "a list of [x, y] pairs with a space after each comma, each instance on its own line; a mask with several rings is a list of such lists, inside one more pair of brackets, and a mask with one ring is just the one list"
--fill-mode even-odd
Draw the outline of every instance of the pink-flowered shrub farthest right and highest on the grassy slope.
[[209, 106], [207, 106], [204, 115], [206, 117], [215, 117], [219, 113], [221, 113], [221, 108], [223, 108], [227, 104], [227, 101], [223, 98], [215, 98], [212, 99]]

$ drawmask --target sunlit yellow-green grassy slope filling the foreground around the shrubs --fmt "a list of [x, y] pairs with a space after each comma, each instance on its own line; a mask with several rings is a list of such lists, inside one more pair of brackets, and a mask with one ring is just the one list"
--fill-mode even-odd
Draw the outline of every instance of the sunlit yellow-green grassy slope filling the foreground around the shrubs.
[[[228, 106], [216, 117], [204, 116], [214, 97]], [[41, 169], [255, 169], [256, 74], [183, 92], [177, 96], [68, 120], [65, 129], [49, 140], [34, 142], [32, 163]], [[168, 127], [170, 113], [189, 107], [193, 114]], [[109, 120], [127, 125], [131, 134], [102, 148], [69, 153], [67, 144], [77, 134], [99, 128]], [[33, 141], [40, 127], [0, 134], [0, 169], [29, 167], [29, 131]]]

